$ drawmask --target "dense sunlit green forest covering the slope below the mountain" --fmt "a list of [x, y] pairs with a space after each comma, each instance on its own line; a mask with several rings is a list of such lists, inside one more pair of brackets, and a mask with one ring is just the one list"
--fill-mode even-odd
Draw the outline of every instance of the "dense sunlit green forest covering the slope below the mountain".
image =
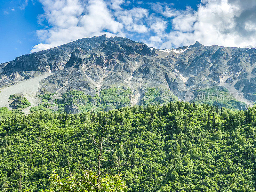
[[115, 179], [129, 192], [256, 191], [256, 105], [238, 111], [180, 101], [0, 116], [0, 191], [42, 191], [55, 176], [94, 174], [103, 130], [105, 183]]

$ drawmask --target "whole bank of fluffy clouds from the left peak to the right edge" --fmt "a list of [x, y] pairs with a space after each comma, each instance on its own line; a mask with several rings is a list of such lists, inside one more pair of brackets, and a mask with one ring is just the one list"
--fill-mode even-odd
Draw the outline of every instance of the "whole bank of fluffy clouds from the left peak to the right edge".
[[40, 0], [44, 14], [37, 52], [79, 38], [107, 34], [157, 48], [194, 44], [256, 47], [256, 1], [201, 0], [197, 10], [127, 0]]

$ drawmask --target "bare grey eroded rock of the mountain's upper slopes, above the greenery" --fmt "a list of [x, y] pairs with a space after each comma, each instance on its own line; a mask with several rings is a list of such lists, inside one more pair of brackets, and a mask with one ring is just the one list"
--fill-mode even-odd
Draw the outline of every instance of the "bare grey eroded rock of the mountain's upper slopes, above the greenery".
[[[17, 57], [2, 68], [0, 87], [49, 71], [56, 73], [45, 78], [40, 89], [60, 93], [78, 90], [101, 97], [102, 90], [126, 87], [131, 90], [130, 105], [146, 105], [148, 97], [158, 104], [176, 100], [175, 96], [184, 99], [186, 91], [220, 84], [243, 90], [251, 101], [255, 98], [252, 94], [256, 94], [254, 48], [204, 46], [196, 42], [159, 50], [142, 42], [105, 35]], [[108, 102], [127, 105], [118, 97]], [[67, 110], [71, 112], [71, 106]]]

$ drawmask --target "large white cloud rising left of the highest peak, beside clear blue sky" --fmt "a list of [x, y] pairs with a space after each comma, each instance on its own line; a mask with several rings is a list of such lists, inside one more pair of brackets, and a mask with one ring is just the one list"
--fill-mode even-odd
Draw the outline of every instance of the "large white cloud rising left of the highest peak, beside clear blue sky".
[[41, 0], [44, 18], [51, 26], [37, 31], [37, 36], [45, 44], [38, 44], [31, 52], [49, 49], [61, 44], [95, 35], [123, 35], [123, 25], [114, 20], [107, 5], [102, 0], [89, 0], [83, 4], [79, 0]]

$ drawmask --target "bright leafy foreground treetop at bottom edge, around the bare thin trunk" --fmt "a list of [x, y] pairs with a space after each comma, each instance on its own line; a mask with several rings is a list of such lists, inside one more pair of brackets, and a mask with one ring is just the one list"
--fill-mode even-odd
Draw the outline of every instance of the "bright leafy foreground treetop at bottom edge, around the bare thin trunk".
[[[92, 171], [83, 172], [82, 175], [62, 178], [55, 171], [50, 175], [48, 182], [50, 188], [42, 192], [127, 192], [121, 174], [105, 175], [97, 182], [97, 174]], [[25, 190], [30, 191], [30, 189]]]

